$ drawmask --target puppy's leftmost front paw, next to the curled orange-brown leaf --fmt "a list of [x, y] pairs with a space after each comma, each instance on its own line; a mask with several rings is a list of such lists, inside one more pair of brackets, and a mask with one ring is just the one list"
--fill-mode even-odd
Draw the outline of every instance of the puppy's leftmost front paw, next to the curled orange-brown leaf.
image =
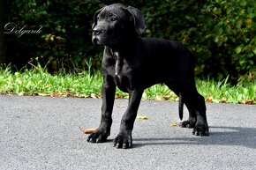
[[105, 130], [96, 129], [94, 133], [92, 133], [91, 135], [89, 135], [89, 137], [87, 137], [87, 142], [90, 142], [90, 143], [106, 142], [109, 135], [110, 133], [106, 132]]

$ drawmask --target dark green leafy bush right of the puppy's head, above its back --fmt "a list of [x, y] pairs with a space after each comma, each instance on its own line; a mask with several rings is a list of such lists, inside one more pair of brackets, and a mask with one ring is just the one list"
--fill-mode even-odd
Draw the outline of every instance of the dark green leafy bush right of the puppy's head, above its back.
[[182, 41], [198, 57], [196, 74], [213, 78], [255, 71], [255, 1], [150, 1], [147, 37]]

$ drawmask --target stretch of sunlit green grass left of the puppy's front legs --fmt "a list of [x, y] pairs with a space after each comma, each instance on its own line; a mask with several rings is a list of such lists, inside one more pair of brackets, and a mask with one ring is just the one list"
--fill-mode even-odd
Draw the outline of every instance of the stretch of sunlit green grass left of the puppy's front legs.
[[77, 75], [63, 72], [51, 75], [38, 67], [15, 73], [11, 73], [10, 69], [2, 69], [0, 93], [89, 97], [101, 92], [101, 81], [100, 73], [92, 76], [86, 71]]

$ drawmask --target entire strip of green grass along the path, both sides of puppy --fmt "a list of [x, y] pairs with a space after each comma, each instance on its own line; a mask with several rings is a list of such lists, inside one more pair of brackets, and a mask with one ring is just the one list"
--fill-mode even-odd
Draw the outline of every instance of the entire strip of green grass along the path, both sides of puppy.
[[[256, 84], [232, 86], [228, 78], [221, 82], [214, 80], [197, 80], [199, 92], [207, 102], [224, 103], [256, 103]], [[49, 74], [40, 66], [34, 69], [24, 69], [11, 72], [10, 68], [0, 68], [0, 94], [42, 95], [42, 96], [72, 96], [100, 98], [102, 75], [100, 71], [94, 75], [90, 71], [81, 73]], [[117, 89], [117, 98], [128, 98], [128, 95]], [[166, 85], [154, 85], [143, 94], [144, 100], [178, 100]]]

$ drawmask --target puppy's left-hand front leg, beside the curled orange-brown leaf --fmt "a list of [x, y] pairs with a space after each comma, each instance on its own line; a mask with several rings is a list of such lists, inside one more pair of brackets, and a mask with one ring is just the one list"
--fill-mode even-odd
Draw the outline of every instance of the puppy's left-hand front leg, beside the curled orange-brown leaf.
[[87, 141], [91, 143], [102, 143], [110, 135], [112, 124], [112, 111], [115, 100], [116, 84], [112, 77], [105, 76], [102, 84], [102, 120], [98, 129], [95, 130]]

